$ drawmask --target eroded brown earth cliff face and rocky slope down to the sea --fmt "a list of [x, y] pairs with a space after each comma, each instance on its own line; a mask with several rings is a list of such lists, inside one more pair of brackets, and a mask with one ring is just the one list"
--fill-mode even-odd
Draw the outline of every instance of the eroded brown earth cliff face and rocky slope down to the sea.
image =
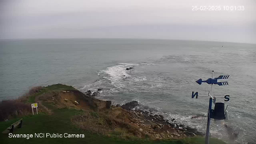
[[[111, 101], [94, 98], [79, 90], [54, 90], [39, 96], [39, 100], [52, 102], [58, 108], [75, 108], [85, 113], [72, 118], [72, 122], [84, 130], [110, 134], [122, 131], [126, 135], [150, 138], [182, 138], [202, 136], [196, 128], [169, 122], [162, 115], [154, 115], [136, 109], [138, 102], [128, 102], [122, 106], [111, 106]], [[96, 113], [93, 113], [96, 112]]]

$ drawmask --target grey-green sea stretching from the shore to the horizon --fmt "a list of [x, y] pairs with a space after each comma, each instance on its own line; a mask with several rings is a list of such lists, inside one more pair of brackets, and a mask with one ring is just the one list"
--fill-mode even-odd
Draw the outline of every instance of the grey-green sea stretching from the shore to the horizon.
[[[132, 70], [126, 68], [133, 67]], [[0, 100], [15, 99], [33, 86], [67, 84], [96, 98], [125, 104], [206, 131], [211, 85], [196, 83], [230, 75], [213, 85], [228, 110], [224, 125], [211, 120], [210, 134], [230, 144], [256, 144], [256, 44], [154, 39], [0, 40]], [[212, 104], [214, 108], [214, 104]], [[198, 118], [192, 116], [198, 115]], [[237, 138], [231, 138], [232, 133]]]

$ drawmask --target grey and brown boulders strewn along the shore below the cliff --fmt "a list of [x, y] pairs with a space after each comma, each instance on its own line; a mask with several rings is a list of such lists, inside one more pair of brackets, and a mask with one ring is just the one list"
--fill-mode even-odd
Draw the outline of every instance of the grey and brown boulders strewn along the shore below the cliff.
[[137, 106], [139, 106], [137, 101], [128, 102], [122, 106], [120, 106], [120, 104], [116, 105], [116, 107], [128, 110], [130, 114], [132, 114], [132, 118], [129, 118], [126, 121], [131, 122], [134, 127], [145, 132], [145, 134], [155, 138], [204, 136], [204, 134], [202, 132], [198, 132], [196, 128], [171, 122], [165, 119], [162, 115], [140, 110]]

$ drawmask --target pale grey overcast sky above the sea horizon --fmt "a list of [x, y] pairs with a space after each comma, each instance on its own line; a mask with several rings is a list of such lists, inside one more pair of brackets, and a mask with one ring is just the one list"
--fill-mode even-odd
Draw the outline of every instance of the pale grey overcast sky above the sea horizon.
[[[192, 11], [192, 6], [222, 10]], [[12, 38], [256, 43], [256, 0], [0, 0], [0, 39]]]

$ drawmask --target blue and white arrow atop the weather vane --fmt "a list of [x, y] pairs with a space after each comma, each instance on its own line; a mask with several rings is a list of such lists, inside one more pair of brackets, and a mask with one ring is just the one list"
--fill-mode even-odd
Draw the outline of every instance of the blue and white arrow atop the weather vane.
[[219, 86], [228, 85], [228, 78], [230, 75], [219, 76], [218, 78], [208, 78], [207, 80], [202, 80], [201, 78], [196, 81], [198, 84], [206, 82], [207, 84], [218, 84]]

